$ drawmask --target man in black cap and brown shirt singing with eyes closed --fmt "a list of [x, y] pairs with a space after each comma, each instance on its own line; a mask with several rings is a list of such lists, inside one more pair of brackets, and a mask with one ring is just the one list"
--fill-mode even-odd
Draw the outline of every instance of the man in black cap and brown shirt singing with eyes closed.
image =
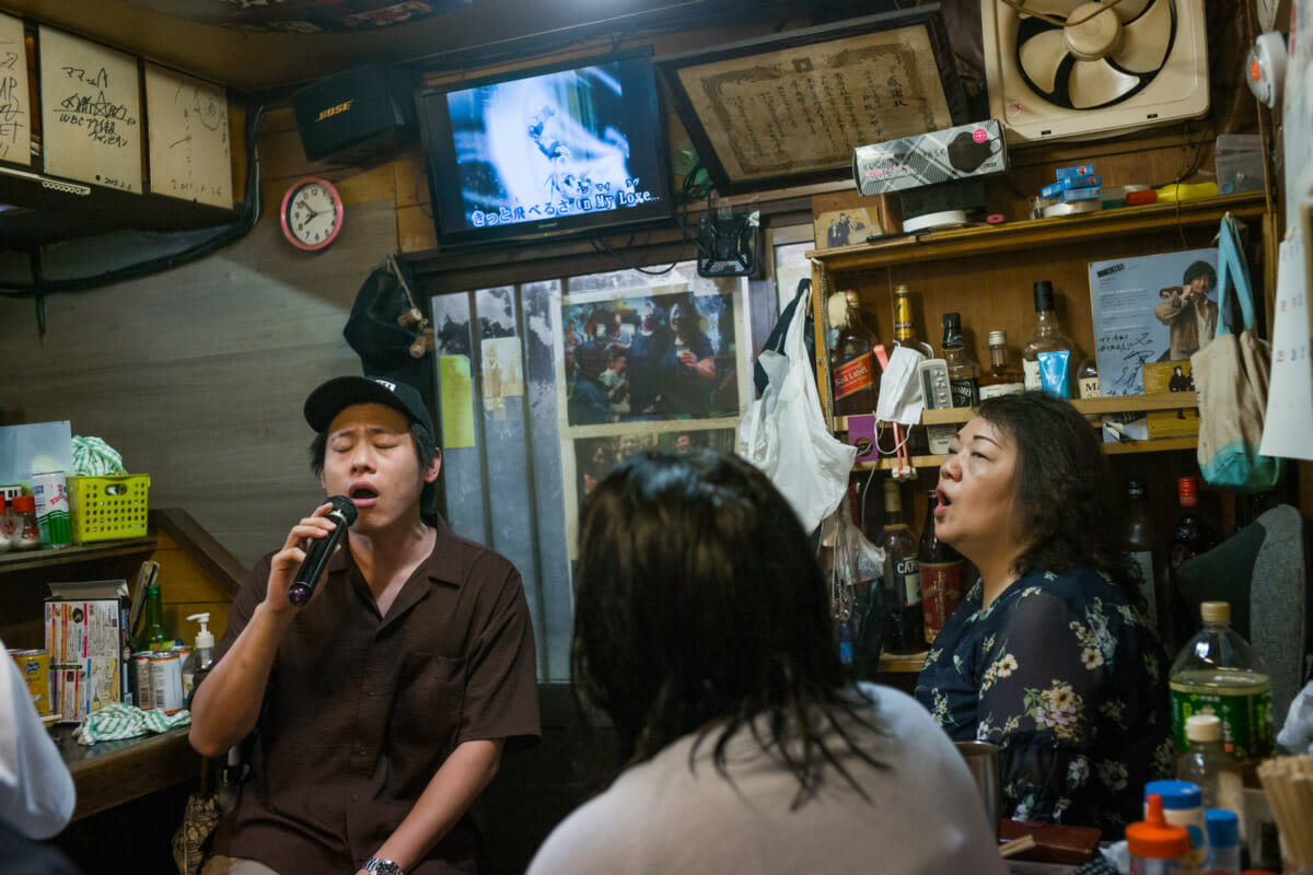
[[192, 746], [218, 757], [255, 731], [204, 874], [475, 871], [466, 809], [503, 746], [538, 737], [520, 575], [421, 512], [441, 454], [418, 391], [341, 376], [305, 416], [324, 491], [357, 518], [301, 606], [288, 589], [332, 506], [293, 526], [197, 676]]

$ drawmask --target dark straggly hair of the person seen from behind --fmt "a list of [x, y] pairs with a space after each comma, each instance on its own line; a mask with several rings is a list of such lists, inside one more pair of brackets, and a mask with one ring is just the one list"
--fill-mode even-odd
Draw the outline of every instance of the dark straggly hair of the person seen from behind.
[[878, 729], [843, 678], [811, 542], [759, 470], [712, 450], [618, 464], [584, 502], [575, 584], [575, 694], [614, 722], [626, 766], [718, 732], [727, 777], [726, 745], [747, 727], [797, 778], [794, 807], [826, 763], [865, 796], [822, 736], [881, 767], [836, 718]]

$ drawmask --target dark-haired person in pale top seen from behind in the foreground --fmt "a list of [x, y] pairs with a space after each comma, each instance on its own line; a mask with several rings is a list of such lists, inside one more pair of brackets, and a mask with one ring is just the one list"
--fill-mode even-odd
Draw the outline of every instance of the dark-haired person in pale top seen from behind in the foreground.
[[646, 453], [579, 531], [572, 677], [624, 766], [529, 875], [1006, 871], [924, 710], [844, 681], [811, 542], [764, 474]]

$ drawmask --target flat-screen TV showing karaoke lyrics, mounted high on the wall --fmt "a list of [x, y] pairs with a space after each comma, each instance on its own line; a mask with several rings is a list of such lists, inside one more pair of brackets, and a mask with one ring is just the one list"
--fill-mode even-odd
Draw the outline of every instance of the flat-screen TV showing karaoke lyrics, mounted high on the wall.
[[416, 101], [440, 247], [675, 215], [650, 50], [436, 85]]

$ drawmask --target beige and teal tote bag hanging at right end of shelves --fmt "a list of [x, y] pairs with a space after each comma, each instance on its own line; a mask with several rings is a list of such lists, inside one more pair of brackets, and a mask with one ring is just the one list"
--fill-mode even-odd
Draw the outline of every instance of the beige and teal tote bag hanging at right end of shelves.
[[[1243, 328], [1232, 333], [1234, 290]], [[1217, 247], [1217, 335], [1190, 357], [1199, 391], [1199, 468], [1204, 479], [1233, 492], [1262, 492], [1276, 485], [1280, 459], [1259, 455], [1271, 345], [1254, 331], [1254, 295], [1241, 253], [1236, 216], [1222, 216]]]

